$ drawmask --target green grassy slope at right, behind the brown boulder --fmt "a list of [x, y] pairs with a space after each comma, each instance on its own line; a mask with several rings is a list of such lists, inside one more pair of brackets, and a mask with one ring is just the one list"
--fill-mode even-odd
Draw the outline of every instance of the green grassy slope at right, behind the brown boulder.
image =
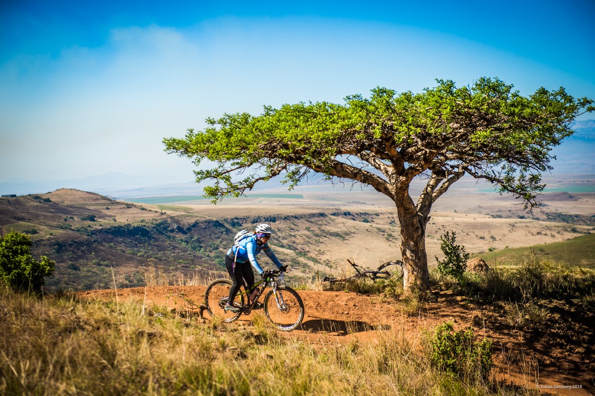
[[481, 257], [490, 265], [518, 265], [530, 257], [536, 257], [571, 266], [595, 268], [595, 234], [583, 235], [562, 242], [474, 254], [474, 257]]

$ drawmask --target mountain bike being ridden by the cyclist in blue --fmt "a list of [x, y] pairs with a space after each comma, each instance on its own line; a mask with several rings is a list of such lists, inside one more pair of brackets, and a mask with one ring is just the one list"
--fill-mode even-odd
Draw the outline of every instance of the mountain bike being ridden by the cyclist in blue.
[[[229, 300], [229, 291], [233, 282], [230, 279], [217, 279], [206, 287], [205, 306], [212, 318], [223, 319], [224, 322], [233, 322], [240, 315], [249, 315], [252, 310], [264, 309], [264, 315], [273, 322], [281, 331], [292, 331], [302, 323], [304, 307], [302, 298], [295, 290], [284, 284], [283, 272], [265, 271], [264, 279], [256, 282], [252, 288], [244, 285], [244, 290], [237, 293], [233, 305], [238, 307], [238, 312], [226, 311], [225, 306]], [[258, 288], [253, 300], [250, 294]], [[265, 294], [265, 290], [268, 293]], [[259, 298], [264, 300], [259, 303]]]

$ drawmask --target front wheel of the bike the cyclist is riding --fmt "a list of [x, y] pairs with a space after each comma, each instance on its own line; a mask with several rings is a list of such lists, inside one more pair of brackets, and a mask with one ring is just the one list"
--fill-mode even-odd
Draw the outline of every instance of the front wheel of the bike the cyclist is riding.
[[292, 331], [302, 323], [304, 308], [297, 291], [278, 286], [264, 298], [264, 314], [281, 331]]

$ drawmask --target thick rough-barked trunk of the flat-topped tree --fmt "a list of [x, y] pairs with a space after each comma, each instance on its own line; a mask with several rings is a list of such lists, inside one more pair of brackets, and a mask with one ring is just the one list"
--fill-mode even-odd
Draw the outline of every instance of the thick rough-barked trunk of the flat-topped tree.
[[397, 202], [397, 213], [402, 238], [403, 290], [405, 294], [411, 294], [430, 290], [428, 256], [425, 252], [425, 226], [429, 217], [417, 212], [409, 194], [404, 198], [408, 202]]

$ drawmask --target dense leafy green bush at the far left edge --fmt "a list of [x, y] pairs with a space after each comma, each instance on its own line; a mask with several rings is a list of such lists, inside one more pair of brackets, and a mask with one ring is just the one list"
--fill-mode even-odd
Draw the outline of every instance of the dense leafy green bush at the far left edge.
[[0, 282], [17, 291], [41, 291], [45, 276], [54, 273], [54, 262], [46, 256], [31, 256], [29, 235], [9, 232], [0, 237]]

